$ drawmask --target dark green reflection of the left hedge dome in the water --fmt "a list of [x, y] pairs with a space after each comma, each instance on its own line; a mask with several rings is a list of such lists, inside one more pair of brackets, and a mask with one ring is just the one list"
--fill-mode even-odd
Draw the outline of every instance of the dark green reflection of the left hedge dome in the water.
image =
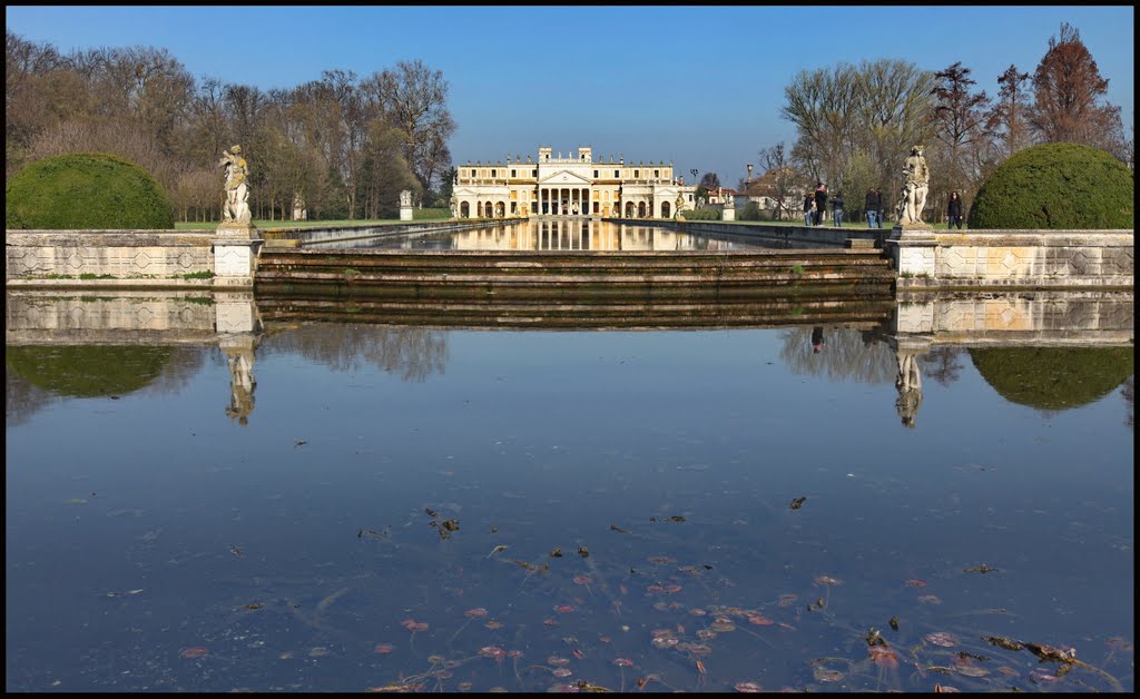
[[154, 381], [170, 360], [165, 347], [9, 347], [8, 368], [58, 396], [130, 393]]

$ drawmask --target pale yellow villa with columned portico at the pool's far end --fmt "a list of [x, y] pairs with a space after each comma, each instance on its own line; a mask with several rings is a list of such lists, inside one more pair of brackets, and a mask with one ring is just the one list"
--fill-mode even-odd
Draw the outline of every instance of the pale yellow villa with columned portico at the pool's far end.
[[577, 154], [538, 148], [538, 161], [467, 163], [456, 168], [455, 214], [461, 219], [529, 216], [671, 219], [677, 197], [694, 209], [697, 187], [673, 178], [673, 163], [595, 162], [593, 148]]

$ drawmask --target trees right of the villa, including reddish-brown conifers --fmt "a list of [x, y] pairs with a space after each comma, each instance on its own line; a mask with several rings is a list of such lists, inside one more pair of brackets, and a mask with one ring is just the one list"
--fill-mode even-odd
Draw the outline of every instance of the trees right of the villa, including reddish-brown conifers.
[[758, 188], [782, 202], [821, 181], [845, 193], [849, 212], [861, 212], [862, 195], [879, 187], [889, 211], [903, 162], [920, 144], [931, 171], [928, 208], [940, 217], [951, 192], [969, 206], [986, 177], [1028, 146], [1077, 143], [1134, 165], [1121, 108], [1105, 101], [1108, 80], [1073, 26], [1050, 38], [1032, 75], [1016, 65], [997, 75], [995, 97], [977, 89], [971, 72], [961, 62], [923, 71], [886, 58], [801, 71], [780, 111], [796, 140], [790, 149], [781, 143], [759, 152]]

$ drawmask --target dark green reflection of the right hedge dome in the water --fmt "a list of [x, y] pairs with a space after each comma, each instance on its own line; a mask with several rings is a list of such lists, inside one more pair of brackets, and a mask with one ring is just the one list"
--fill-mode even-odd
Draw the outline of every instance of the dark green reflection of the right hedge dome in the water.
[[1011, 403], [1064, 411], [1106, 396], [1132, 375], [1132, 348], [971, 349], [982, 377]]

